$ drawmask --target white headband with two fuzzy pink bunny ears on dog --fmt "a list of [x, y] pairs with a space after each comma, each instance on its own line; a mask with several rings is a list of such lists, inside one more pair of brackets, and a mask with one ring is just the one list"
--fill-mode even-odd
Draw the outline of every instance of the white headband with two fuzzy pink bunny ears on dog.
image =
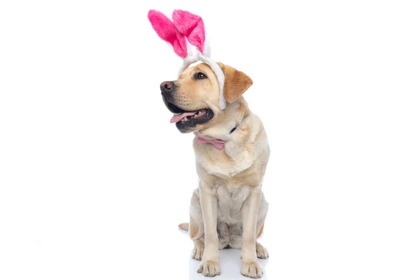
[[[216, 74], [219, 84], [219, 107], [221, 110], [225, 109], [226, 99], [223, 97], [225, 75], [221, 67], [210, 58], [210, 47], [206, 41], [206, 31], [202, 18], [185, 10], [174, 10], [172, 21], [158, 10], [149, 10], [148, 19], [158, 36], [172, 45], [176, 55], [183, 59], [183, 65], [179, 73], [199, 61], [210, 66]], [[193, 52], [194, 47], [195, 51]]]

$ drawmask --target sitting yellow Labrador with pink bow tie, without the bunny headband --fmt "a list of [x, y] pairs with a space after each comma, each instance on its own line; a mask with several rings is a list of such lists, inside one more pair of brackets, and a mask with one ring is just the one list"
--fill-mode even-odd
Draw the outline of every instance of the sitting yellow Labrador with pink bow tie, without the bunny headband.
[[190, 204], [190, 223], [179, 227], [193, 239], [192, 256], [201, 260], [197, 272], [221, 274], [219, 249], [241, 248], [241, 274], [260, 278], [257, 258], [267, 258], [267, 249], [256, 239], [262, 235], [268, 203], [262, 179], [269, 160], [267, 134], [242, 94], [253, 84], [237, 69], [218, 62], [225, 76], [219, 109], [219, 87], [214, 71], [197, 64], [183, 71], [178, 80], [161, 83], [162, 99], [174, 113], [182, 133], [193, 132], [199, 186]]

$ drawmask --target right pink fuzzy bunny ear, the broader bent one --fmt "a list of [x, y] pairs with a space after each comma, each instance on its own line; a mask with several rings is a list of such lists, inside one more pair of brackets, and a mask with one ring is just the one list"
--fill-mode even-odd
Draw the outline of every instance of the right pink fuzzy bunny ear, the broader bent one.
[[206, 32], [202, 18], [186, 10], [174, 10], [172, 20], [174, 20], [176, 28], [188, 38], [191, 45], [195, 45], [204, 54]]

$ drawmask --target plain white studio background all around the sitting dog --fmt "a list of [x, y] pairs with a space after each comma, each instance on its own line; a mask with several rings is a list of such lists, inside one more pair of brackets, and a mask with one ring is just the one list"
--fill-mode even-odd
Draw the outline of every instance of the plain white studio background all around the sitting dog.
[[[265, 279], [419, 279], [418, 1], [1, 1], [0, 279], [204, 279], [181, 66], [149, 8], [202, 15], [269, 136]], [[417, 2], [417, 3], [416, 3]], [[223, 251], [218, 279], [244, 279]]]

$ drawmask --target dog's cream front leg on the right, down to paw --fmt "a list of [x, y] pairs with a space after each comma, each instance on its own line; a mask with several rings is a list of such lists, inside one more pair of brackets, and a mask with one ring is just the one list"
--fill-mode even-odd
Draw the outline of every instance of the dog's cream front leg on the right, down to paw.
[[262, 276], [262, 267], [257, 261], [255, 244], [258, 209], [260, 209], [261, 186], [251, 187], [251, 193], [242, 207], [242, 267], [241, 274], [251, 278]]

